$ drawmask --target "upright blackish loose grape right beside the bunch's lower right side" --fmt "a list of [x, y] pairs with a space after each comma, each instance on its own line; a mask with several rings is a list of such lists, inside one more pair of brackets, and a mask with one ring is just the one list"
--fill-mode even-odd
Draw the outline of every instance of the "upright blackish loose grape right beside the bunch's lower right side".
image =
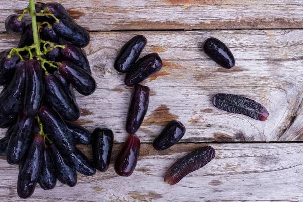
[[96, 128], [92, 135], [93, 163], [98, 171], [105, 172], [110, 165], [114, 134], [110, 129]]

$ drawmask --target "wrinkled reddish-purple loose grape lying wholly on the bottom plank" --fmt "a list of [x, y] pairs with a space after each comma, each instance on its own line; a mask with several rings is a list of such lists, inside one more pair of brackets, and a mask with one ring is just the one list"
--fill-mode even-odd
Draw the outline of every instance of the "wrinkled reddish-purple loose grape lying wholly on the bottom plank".
[[214, 157], [215, 149], [211, 146], [196, 149], [172, 165], [167, 170], [164, 181], [170, 185], [174, 185], [189, 173], [205, 166]]

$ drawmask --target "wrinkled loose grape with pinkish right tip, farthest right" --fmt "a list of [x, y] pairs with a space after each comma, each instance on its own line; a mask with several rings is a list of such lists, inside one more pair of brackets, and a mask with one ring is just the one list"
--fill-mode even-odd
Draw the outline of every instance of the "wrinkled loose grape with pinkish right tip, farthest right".
[[266, 108], [252, 99], [232, 94], [216, 94], [213, 105], [221, 110], [243, 114], [259, 121], [267, 120], [269, 116]]

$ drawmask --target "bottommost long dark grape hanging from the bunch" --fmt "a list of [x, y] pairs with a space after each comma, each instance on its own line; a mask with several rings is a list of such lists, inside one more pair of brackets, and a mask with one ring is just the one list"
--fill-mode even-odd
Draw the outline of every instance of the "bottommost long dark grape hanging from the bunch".
[[17, 193], [20, 198], [29, 198], [34, 193], [43, 166], [43, 154], [44, 138], [36, 134], [19, 169]]

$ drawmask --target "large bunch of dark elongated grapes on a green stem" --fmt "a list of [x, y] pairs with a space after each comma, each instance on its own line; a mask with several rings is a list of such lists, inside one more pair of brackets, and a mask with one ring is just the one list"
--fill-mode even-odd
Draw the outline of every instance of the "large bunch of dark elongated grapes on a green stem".
[[[31, 24], [23, 18], [26, 13]], [[81, 113], [74, 89], [85, 96], [96, 89], [81, 49], [88, 45], [89, 33], [61, 4], [34, 0], [22, 15], [7, 17], [5, 28], [22, 34], [18, 47], [0, 53], [0, 127], [9, 128], [0, 140], [0, 155], [9, 164], [19, 165], [21, 198], [30, 197], [37, 183], [45, 190], [53, 189], [57, 179], [75, 186], [76, 171], [96, 172], [76, 148], [76, 144], [91, 144], [92, 134], [72, 123]], [[111, 131], [95, 133], [96, 138], [103, 138], [104, 133], [112, 137]], [[99, 169], [106, 170], [108, 162], [103, 163]]]

